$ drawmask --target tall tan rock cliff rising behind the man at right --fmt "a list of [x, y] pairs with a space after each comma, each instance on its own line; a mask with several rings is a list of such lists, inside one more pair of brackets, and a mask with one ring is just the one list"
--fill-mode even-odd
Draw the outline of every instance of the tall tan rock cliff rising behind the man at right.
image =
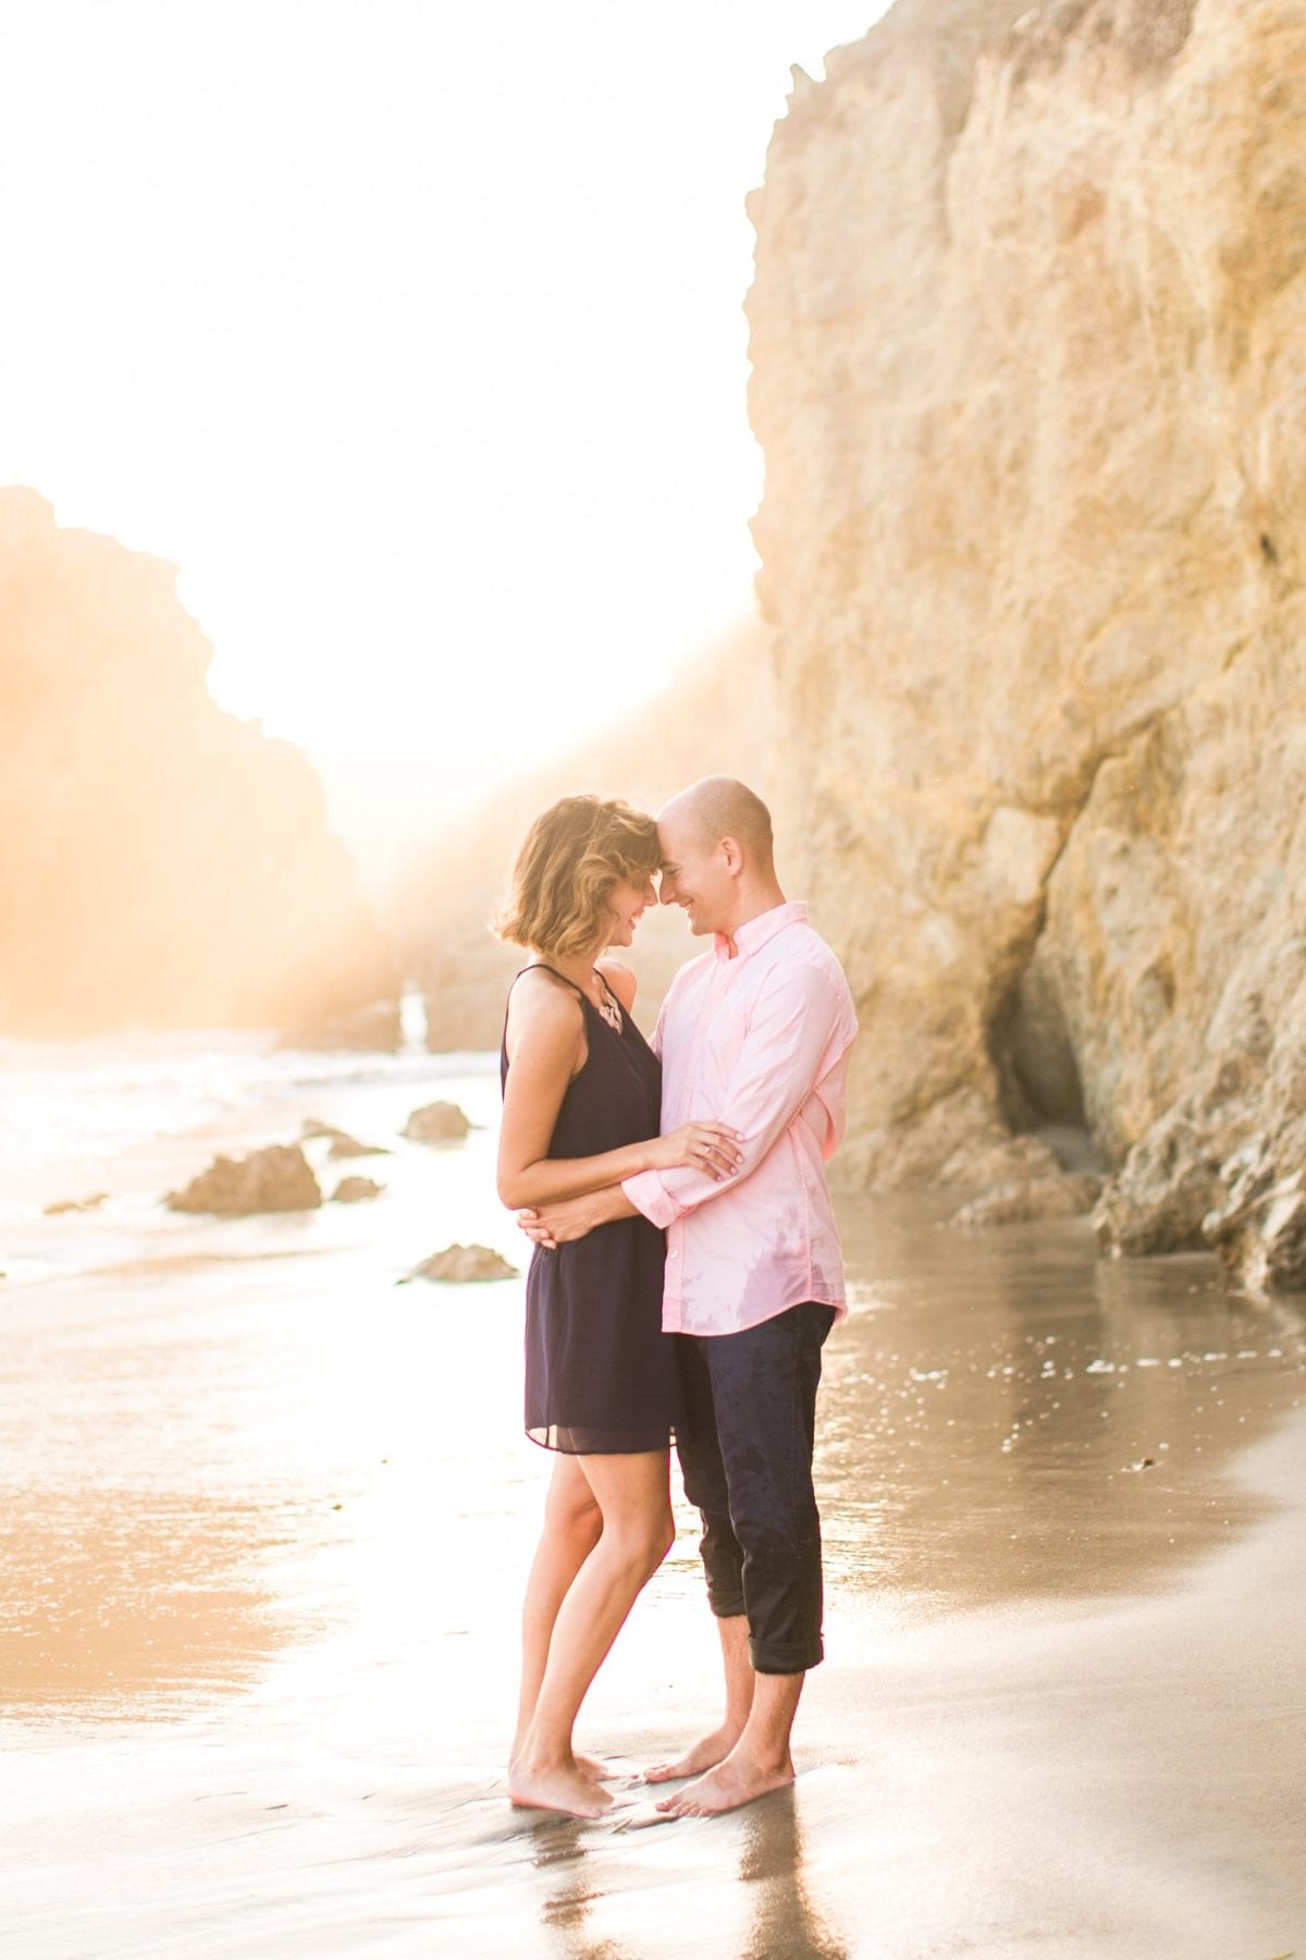
[[1306, 6], [899, 0], [752, 216], [846, 1174], [1083, 1121], [1108, 1247], [1306, 1286]]

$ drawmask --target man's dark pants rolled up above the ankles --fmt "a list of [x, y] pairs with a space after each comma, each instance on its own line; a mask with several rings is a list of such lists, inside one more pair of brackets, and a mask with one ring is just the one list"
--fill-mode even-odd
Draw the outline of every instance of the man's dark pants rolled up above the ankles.
[[834, 1307], [803, 1301], [736, 1335], [677, 1335], [685, 1497], [703, 1517], [707, 1597], [748, 1615], [758, 1674], [801, 1674], [820, 1642], [820, 1513], [813, 1435], [820, 1347]]

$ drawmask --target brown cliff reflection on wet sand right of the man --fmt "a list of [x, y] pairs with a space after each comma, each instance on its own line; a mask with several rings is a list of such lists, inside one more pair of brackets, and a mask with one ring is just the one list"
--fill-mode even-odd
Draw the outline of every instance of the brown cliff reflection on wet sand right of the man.
[[936, 1227], [846, 1203], [826, 1347], [834, 1588], [918, 1603], [1153, 1584], [1257, 1515], [1222, 1468], [1302, 1399], [1302, 1317], [1208, 1258], [1100, 1262], [1087, 1223]]

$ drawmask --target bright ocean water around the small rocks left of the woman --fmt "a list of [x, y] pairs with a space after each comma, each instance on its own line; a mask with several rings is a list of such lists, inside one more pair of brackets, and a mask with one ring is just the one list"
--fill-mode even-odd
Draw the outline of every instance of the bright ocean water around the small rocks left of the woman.
[[[345, 1207], [305, 1219], [210, 1221], [168, 1211], [163, 1196], [204, 1170], [217, 1152], [300, 1141], [302, 1121], [362, 1125], [362, 1141], [392, 1151], [333, 1162], [323, 1143], [307, 1154], [323, 1196], [362, 1172], [388, 1186], [368, 1237], [405, 1256], [405, 1200], [413, 1166], [431, 1154], [392, 1135], [423, 1102], [452, 1100], [484, 1127], [497, 1121], [497, 1062], [488, 1054], [427, 1054], [421, 1002], [405, 1002], [405, 1047], [396, 1054], [280, 1049], [268, 1033], [106, 1035], [70, 1043], [0, 1041], [0, 1270], [10, 1284], [78, 1270], [276, 1245], [327, 1245], [350, 1237]], [[349, 1123], [345, 1121], [349, 1117]], [[368, 1125], [380, 1125], [372, 1135]], [[450, 1154], [443, 1188], [503, 1225], [474, 1176], [468, 1152]], [[378, 1172], [378, 1166], [386, 1166]], [[464, 1194], [464, 1184], [466, 1194]], [[45, 1217], [45, 1205], [104, 1194], [94, 1211]], [[490, 1200], [490, 1203], [486, 1203]], [[390, 1227], [397, 1229], [392, 1245]], [[337, 1241], [333, 1241], [337, 1229]], [[421, 1256], [421, 1254], [415, 1254]]]

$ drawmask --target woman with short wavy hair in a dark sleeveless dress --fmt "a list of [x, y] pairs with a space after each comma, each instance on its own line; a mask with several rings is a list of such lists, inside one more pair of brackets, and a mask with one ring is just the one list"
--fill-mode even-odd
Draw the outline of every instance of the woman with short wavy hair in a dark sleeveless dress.
[[[658, 1135], [662, 1070], [630, 1019], [629, 947], [656, 904], [658, 829], [623, 802], [568, 796], [533, 825], [499, 935], [535, 958], [503, 1025], [499, 1198], [582, 1198], [638, 1170], [734, 1170], [734, 1131]], [[580, 1703], [672, 1539], [668, 1445], [679, 1419], [676, 1343], [662, 1333], [662, 1233], [615, 1219], [527, 1276], [527, 1435], [556, 1452], [523, 1609], [509, 1795], [599, 1817], [603, 1766], [578, 1758]]]

